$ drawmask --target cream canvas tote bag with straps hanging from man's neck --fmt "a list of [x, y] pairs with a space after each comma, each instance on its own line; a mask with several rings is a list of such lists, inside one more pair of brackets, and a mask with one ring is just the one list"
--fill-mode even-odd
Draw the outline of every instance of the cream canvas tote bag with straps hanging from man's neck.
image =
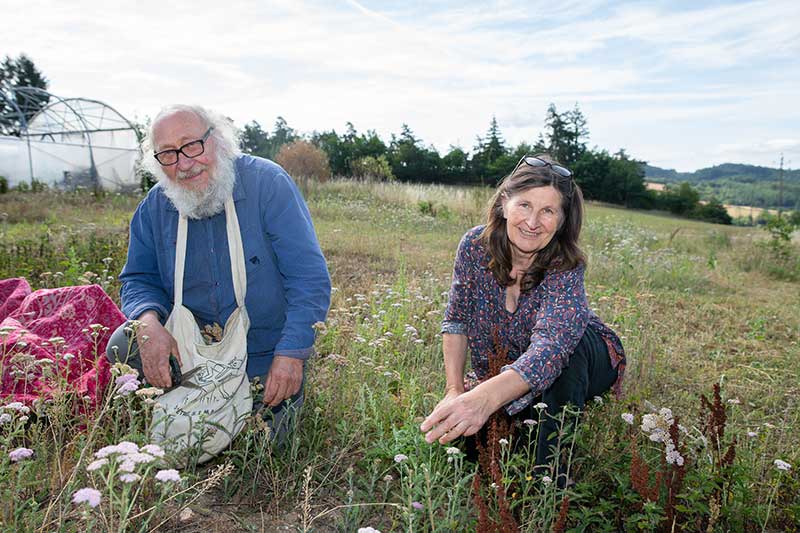
[[241, 431], [253, 408], [250, 381], [247, 379], [247, 331], [250, 318], [244, 306], [247, 272], [239, 219], [233, 198], [225, 202], [228, 249], [236, 294], [236, 310], [225, 323], [222, 340], [207, 345], [197, 322], [183, 306], [183, 272], [186, 259], [188, 223], [178, 221], [175, 251], [175, 306], [166, 328], [175, 337], [181, 353], [181, 371], [197, 367], [188, 383], [172, 389], [157, 399], [153, 410], [151, 437], [172, 452], [181, 452], [199, 444], [199, 462], [205, 462], [227, 447]]

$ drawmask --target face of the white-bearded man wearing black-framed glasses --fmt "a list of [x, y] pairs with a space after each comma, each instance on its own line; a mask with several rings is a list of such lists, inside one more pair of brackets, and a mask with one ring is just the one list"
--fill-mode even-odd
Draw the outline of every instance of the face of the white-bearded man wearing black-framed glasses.
[[[159, 120], [153, 127], [153, 148], [177, 150], [186, 143], [201, 139], [208, 130], [203, 121], [194, 113], [179, 111]], [[213, 138], [205, 141], [205, 150], [197, 157], [189, 158], [178, 154], [178, 162], [174, 165], [162, 165], [167, 178], [180, 187], [203, 191], [211, 182], [216, 167], [216, 155]]]

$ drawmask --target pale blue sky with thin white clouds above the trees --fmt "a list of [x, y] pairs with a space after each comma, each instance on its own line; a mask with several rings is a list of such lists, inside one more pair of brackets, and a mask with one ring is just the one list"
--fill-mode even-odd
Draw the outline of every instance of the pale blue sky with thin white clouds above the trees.
[[[5, 6], [4, 4], [8, 4]], [[13, 4], [13, 6], [12, 6]], [[800, 2], [0, 0], [0, 56], [144, 120], [201, 104], [301, 133], [408, 124], [444, 155], [496, 117], [533, 143], [576, 104], [592, 148], [663, 168], [800, 166]], [[13, 8], [9, 8], [9, 6]]]

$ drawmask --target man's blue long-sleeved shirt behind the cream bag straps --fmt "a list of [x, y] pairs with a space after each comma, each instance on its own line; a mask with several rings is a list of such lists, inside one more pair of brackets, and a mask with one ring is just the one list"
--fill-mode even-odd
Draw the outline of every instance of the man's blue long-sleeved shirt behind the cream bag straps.
[[[233, 200], [247, 269], [250, 316], [247, 374], [263, 375], [273, 355], [307, 359], [313, 324], [325, 320], [331, 282], [311, 215], [284, 170], [271, 161], [236, 160]], [[189, 219], [183, 303], [198, 324], [225, 325], [236, 309], [225, 213]], [[156, 185], [136, 209], [122, 269], [122, 312], [138, 318], [173, 306], [178, 211]]]

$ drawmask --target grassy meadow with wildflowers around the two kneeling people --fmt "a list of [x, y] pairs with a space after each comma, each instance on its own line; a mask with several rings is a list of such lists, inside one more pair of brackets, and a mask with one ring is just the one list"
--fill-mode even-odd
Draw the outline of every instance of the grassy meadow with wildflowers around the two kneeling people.
[[[274, 446], [254, 418], [179, 481], [142, 462], [125, 482], [94, 454], [146, 446], [152, 398], [112, 386], [94, 411], [69, 393], [27, 413], [2, 407], [2, 531], [479, 527], [462, 443], [428, 445], [418, 427], [444, 388], [439, 325], [455, 249], [490, 191], [302, 185], [334, 290], [299, 430]], [[0, 195], [0, 275], [34, 289], [98, 283], [118, 301], [139, 199]], [[776, 250], [757, 228], [590, 204], [582, 245], [591, 305], [628, 353], [625, 394], [591, 402], [565, 433], [566, 489], [531, 475], [531, 450], [501, 444], [500, 477], [480, 489], [489, 521], [505, 506], [532, 532], [800, 530], [797, 243]], [[667, 441], [682, 464], [666, 460]], [[12, 460], [21, 447], [32, 455]], [[82, 488], [100, 492], [96, 507], [73, 502]]]

